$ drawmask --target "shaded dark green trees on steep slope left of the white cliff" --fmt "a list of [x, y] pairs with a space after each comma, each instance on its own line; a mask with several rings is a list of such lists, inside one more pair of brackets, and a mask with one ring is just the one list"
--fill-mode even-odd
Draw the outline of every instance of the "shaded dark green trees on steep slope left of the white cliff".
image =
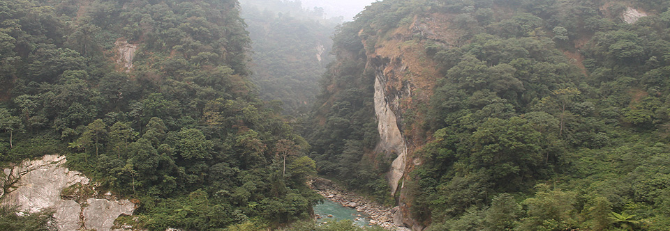
[[[360, 45], [357, 33], [350, 28], [337, 36], [343, 37], [334, 40], [334, 47], [352, 49], [340, 47], [350, 45], [348, 42], [353, 42], [355, 47]], [[355, 53], [361, 55], [358, 51]], [[374, 76], [363, 71], [363, 64], [362, 60], [346, 60], [329, 66], [329, 70], [337, 74], [326, 74], [322, 86], [336, 88], [318, 96], [315, 109], [324, 110], [313, 113], [304, 121], [304, 127], [318, 125], [306, 131], [306, 137], [312, 147], [310, 157], [316, 161], [319, 174], [338, 177], [346, 186], [388, 203], [391, 196], [384, 190], [388, 185], [378, 179], [388, 170], [394, 154], [385, 154], [379, 159], [364, 155], [376, 145], [378, 133], [373, 118]], [[337, 88], [348, 90], [334, 92]]]

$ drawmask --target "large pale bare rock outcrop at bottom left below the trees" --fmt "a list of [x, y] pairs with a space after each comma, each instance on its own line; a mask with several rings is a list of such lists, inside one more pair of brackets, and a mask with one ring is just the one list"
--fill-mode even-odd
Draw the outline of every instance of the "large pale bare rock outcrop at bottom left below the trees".
[[[80, 198], [65, 200], [61, 194], [70, 186], [91, 186], [82, 173], [65, 168], [64, 156], [46, 155], [42, 159], [23, 161], [3, 170], [0, 180], [1, 202], [16, 205], [28, 212], [54, 209], [57, 225], [61, 231], [112, 230], [114, 220], [121, 214], [131, 215], [135, 204], [128, 200], [116, 200], [110, 194], [103, 198]], [[94, 186], [91, 186], [93, 189]]]

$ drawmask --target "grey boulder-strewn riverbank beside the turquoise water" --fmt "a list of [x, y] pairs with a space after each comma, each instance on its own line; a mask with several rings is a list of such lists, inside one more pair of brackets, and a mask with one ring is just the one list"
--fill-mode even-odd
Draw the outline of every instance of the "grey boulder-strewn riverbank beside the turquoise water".
[[345, 192], [337, 184], [324, 178], [313, 178], [307, 184], [327, 200], [367, 214], [371, 225], [378, 225], [386, 230], [411, 231], [409, 228], [405, 228], [402, 223], [396, 224], [394, 222], [395, 214], [399, 212], [399, 207], [397, 206], [385, 207], [376, 202], [371, 202], [362, 196], [357, 196], [355, 193]]

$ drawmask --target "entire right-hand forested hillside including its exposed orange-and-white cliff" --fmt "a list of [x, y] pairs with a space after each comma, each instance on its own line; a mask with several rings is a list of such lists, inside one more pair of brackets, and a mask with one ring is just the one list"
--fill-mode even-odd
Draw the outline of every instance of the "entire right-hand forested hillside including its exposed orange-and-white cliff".
[[373, 3], [334, 38], [310, 157], [415, 230], [668, 230], [669, 5]]

